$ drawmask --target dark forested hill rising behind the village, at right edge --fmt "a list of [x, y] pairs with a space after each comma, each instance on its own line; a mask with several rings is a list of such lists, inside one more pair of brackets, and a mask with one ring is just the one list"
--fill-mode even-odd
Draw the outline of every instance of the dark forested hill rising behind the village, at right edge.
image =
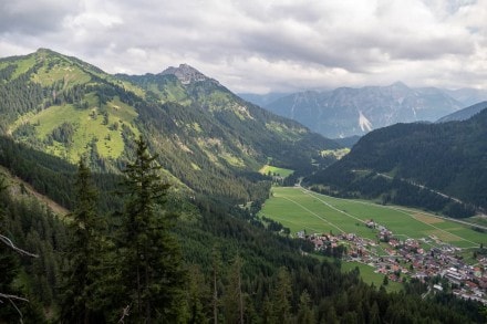
[[333, 195], [465, 217], [473, 207], [487, 209], [486, 138], [487, 109], [464, 122], [397, 124], [363, 136], [305, 182]]

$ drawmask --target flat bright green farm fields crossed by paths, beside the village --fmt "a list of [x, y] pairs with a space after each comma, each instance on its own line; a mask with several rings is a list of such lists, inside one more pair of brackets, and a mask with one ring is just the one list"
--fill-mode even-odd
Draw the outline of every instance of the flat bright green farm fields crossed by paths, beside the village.
[[487, 243], [486, 233], [425, 211], [333, 198], [300, 187], [273, 187], [260, 215], [281, 222], [291, 234], [303, 230], [308, 233], [331, 231], [376, 239], [376, 231], [365, 226], [365, 221], [372, 219], [400, 239], [427, 239], [425, 249], [442, 242], [463, 249]]

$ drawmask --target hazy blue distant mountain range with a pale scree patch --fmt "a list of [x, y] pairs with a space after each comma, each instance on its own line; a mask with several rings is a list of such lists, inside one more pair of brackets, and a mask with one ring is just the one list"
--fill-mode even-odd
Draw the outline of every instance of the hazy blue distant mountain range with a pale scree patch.
[[401, 82], [301, 92], [265, 106], [330, 138], [364, 135], [395, 123], [434, 122], [462, 107], [462, 103], [438, 88], [410, 88]]

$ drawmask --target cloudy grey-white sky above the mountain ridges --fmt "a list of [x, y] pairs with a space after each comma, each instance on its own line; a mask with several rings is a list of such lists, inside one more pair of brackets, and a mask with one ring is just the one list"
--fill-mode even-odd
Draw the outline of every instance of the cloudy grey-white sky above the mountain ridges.
[[0, 0], [0, 58], [39, 48], [236, 93], [487, 88], [487, 0]]

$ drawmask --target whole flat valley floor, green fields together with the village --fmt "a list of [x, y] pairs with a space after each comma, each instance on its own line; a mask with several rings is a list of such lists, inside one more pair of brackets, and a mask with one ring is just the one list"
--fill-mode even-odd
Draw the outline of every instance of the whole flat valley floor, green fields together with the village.
[[372, 266], [387, 281], [441, 278], [455, 294], [487, 303], [487, 258], [477, 253], [484, 251], [479, 248], [487, 234], [467, 222], [302, 187], [272, 188], [261, 216], [281, 222], [291, 236], [312, 241], [317, 251], [346, 247], [344, 260]]

